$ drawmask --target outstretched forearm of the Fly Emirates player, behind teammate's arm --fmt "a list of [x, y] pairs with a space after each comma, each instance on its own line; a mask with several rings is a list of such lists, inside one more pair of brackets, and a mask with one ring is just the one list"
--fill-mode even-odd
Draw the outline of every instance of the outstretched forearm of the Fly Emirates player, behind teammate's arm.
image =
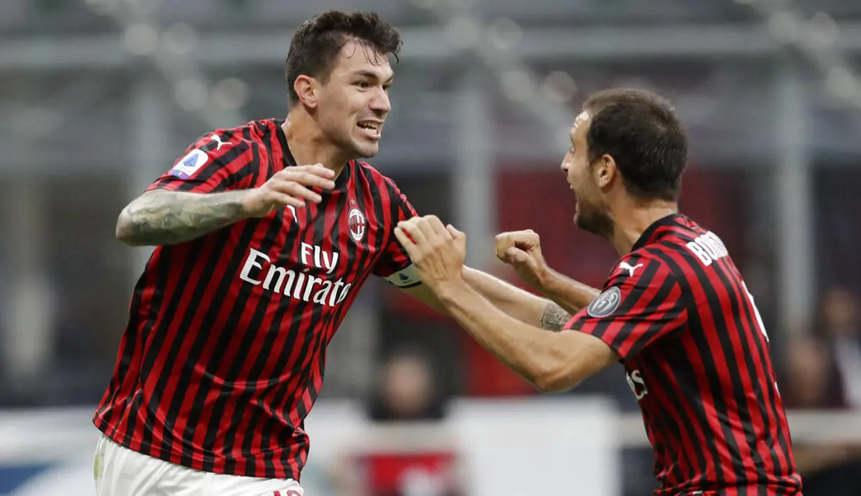
[[485, 272], [464, 267], [463, 278], [493, 306], [518, 321], [542, 329], [558, 331], [571, 319], [571, 314], [558, 304], [536, 297]]

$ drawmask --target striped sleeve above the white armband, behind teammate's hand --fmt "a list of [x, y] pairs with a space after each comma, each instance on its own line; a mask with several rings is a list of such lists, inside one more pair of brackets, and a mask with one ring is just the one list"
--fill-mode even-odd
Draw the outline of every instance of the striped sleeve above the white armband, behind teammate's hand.
[[418, 213], [412, 207], [410, 200], [406, 199], [406, 195], [400, 193], [394, 181], [388, 178], [385, 181], [390, 205], [388, 217], [391, 219], [387, 227], [391, 232], [388, 233], [387, 245], [383, 248], [384, 253], [374, 268], [374, 275], [386, 279], [389, 284], [401, 289], [412, 288], [422, 282], [418, 279], [418, 272], [412, 266], [406, 250], [400, 246], [398, 238], [394, 236], [394, 228], [400, 221], [415, 217]]

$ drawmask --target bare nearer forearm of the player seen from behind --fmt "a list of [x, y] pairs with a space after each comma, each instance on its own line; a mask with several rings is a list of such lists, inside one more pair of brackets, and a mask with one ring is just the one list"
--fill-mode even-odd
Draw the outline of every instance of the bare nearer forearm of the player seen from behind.
[[462, 328], [500, 362], [538, 389], [560, 390], [554, 384], [571, 357], [559, 346], [559, 333], [547, 333], [506, 315], [467, 283], [439, 294], [440, 302]]

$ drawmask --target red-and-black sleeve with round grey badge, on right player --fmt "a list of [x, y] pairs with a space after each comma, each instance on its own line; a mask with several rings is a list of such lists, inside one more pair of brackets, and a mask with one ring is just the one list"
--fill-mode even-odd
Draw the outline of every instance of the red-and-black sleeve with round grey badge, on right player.
[[632, 255], [616, 266], [604, 291], [565, 328], [603, 340], [625, 361], [682, 328], [686, 315], [670, 268], [659, 259]]

